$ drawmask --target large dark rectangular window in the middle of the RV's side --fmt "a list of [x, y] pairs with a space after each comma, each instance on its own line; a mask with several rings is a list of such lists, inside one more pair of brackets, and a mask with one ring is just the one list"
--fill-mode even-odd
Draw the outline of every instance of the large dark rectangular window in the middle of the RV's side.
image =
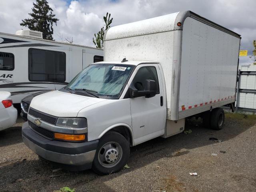
[[28, 50], [28, 79], [30, 81], [64, 82], [66, 80], [66, 54], [30, 48]]

